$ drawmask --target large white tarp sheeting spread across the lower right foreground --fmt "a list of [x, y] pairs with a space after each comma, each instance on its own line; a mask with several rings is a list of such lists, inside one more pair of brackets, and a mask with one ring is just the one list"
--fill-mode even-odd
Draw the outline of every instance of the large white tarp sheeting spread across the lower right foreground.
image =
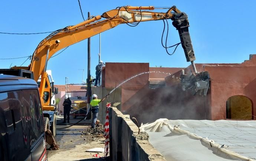
[[251, 161], [256, 121], [158, 119], [141, 126], [167, 161]]

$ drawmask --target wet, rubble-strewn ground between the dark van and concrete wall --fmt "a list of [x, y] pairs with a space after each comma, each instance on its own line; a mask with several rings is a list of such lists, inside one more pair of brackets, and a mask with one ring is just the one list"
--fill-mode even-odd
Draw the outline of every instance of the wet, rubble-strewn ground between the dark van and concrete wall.
[[[67, 127], [72, 125], [82, 117], [77, 119], [71, 119], [69, 124], [63, 124], [63, 117], [58, 116], [57, 128]], [[95, 129], [91, 129], [89, 126], [90, 120], [83, 120], [78, 125], [68, 127], [66, 129], [59, 129], [56, 132], [55, 140], [59, 144], [59, 150], [47, 150], [48, 161], [99, 161], [103, 158], [93, 157], [94, 154], [98, 154], [100, 157], [104, 157], [104, 153], [92, 153], [86, 152], [91, 148], [104, 148], [105, 138], [104, 127], [96, 126]], [[49, 148], [49, 145], [48, 145]], [[106, 158], [108, 160], [108, 157]]]

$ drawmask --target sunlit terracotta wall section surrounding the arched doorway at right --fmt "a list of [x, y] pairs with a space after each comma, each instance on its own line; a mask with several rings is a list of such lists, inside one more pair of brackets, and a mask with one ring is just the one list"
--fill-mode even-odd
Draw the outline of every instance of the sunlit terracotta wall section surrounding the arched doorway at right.
[[[205, 66], [211, 77], [211, 117], [226, 119], [226, 101], [231, 96], [241, 95], [256, 105], [256, 66]], [[256, 108], [253, 107], [253, 115]]]

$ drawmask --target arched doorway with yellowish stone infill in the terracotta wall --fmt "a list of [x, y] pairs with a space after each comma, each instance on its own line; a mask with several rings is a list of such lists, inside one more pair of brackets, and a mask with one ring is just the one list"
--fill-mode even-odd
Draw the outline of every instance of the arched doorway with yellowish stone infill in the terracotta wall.
[[226, 102], [226, 118], [252, 120], [252, 101], [246, 96], [232, 96]]

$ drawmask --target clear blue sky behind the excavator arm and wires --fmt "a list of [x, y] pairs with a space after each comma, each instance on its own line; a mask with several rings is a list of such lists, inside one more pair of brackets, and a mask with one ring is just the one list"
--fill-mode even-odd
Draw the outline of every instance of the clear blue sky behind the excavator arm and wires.
[[[77, 0], [0, 0], [0, 32], [33, 33], [55, 31], [83, 21]], [[188, 14], [190, 36], [196, 63], [241, 63], [256, 54], [256, 0], [80, 0], [83, 15], [101, 15], [118, 6], [173, 5]], [[167, 11], [167, 10], [155, 10]], [[169, 21], [168, 45], [180, 42], [178, 32]], [[181, 46], [174, 55], [167, 55], [161, 46], [163, 21], [140, 23], [136, 27], [126, 24], [102, 32], [101, 59], [104, 62], [149, 62], [151, 67], [186, 67]], [[41, 40], [48, 34], [5, 35], [0, 34], [0, 58], [16, 58], [32, 55]], [[170, 50], [171, 52], [172, 50]], [[58, 53], [58, 52], [57, 52]], [[98, 64], [99, 35], [91, 38], [91, 75], [95, 76]], [[26, 58], [0, 60], [0, 68], [20, 66]], [[23, 66], [28, 66], [26, 61]], [[51, 69], [55, 84], [82, 83], [82, 71], [87, 77], [87, 40], [67, 48], [50, 59], [47, 69]]]

